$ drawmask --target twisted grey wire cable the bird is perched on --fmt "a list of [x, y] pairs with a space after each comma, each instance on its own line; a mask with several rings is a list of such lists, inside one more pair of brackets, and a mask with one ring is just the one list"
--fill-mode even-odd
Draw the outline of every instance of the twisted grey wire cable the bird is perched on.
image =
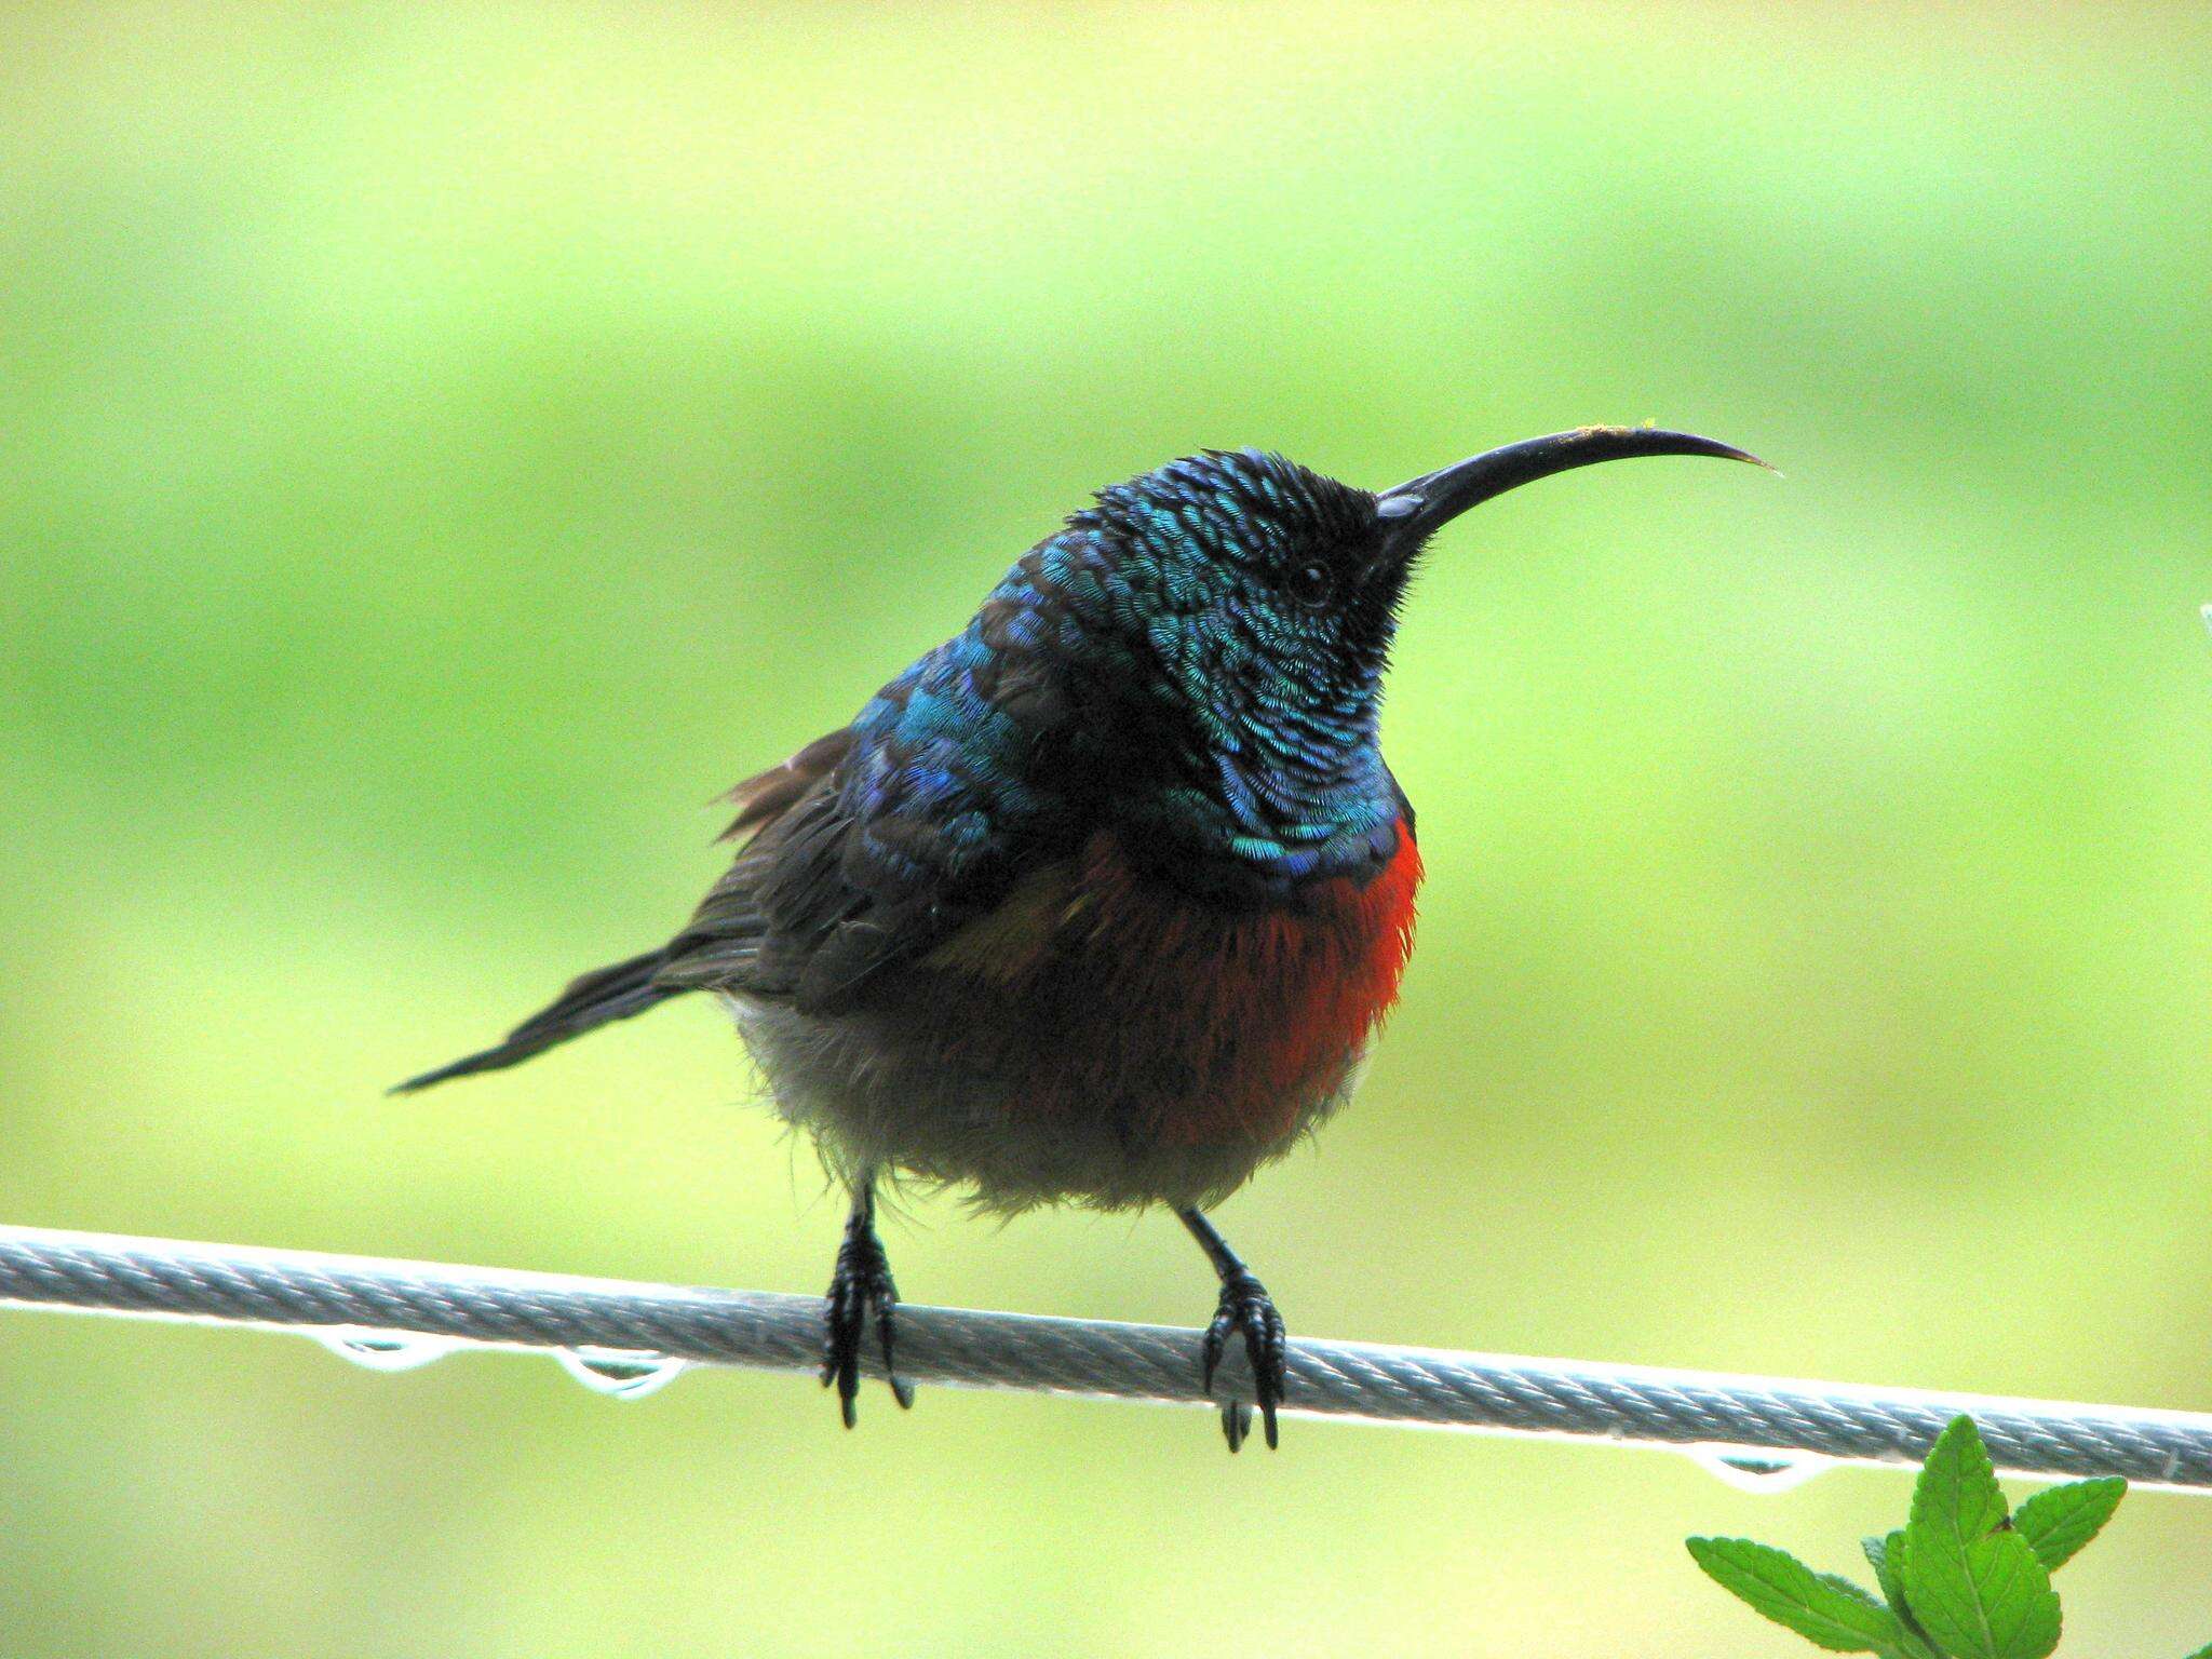
[[[246, 1250], [44, 1228], [0, 1228], [0, 1303], [553, 1349], [611, 1367], [675, 1360], [812, 1371], [825, 1303], [369, 1256]], [[1194, 1329], [960, 1307], [898, 1310], [911, 1383], [1155, 1402], [1250, 1398], [1239, 1345], [1199, 1387]], [[874, 1349], [863, 1369], [883, 1376]], [[619, 1376], [619, 1369], [615, 1371]], [[1960, 1411], [1997, 1467], [2126, 1475], [2212, 1491], [2212, 1416], [1920, 1389], [1666, 1371], [1582, 1360], [1294, 1340], [1285, 1411], [1533, 1436], [1593, 1436], [1725, 1451], [1750, 1471], [1803, 1460], [1918, 1462]]]

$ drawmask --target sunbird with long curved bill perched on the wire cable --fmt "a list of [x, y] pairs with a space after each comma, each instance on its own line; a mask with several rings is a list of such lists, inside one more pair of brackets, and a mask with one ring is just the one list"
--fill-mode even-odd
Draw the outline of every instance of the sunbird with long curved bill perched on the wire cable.
[[498, 1071], [706, 993], [849, 1212], [821, 1380], [845, 1427], [874, 1332], [900, 1407], [891, 1181], [982, 1212], [1170, 1208], [1241, 1343], [1237, 1451], [1287, 1391], [1274, 1298], [1208, 1210], [1352, 1095], [1413, 947], [1413, 807], [1383, 761], [1391, 641], [1431, 538], [1509, 489], [1637, 456], [1579, 427], [1367, 491], [1206, 449], [1095, 493], [843, 728], [730, 792], [721, 880], [666, 942], [573, 980]]

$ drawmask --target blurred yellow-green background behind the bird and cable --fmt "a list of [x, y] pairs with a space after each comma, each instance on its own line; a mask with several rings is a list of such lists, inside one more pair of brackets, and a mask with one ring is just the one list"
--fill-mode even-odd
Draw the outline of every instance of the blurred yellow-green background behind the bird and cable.
[[[1086, 491], [1586, 420], [1787, 480], [1462, 522], [1292, 1329], [2212, 1407], [2203, 9], [9, 7], [0, 1221], [818, 1290], [710, 1006], [383, 1084], [637, 949], [710, 796]], [[1172, 1221], [889, 1232], [1190, 1323]], [[1907, 1482], [0, 1318], [7, 1655], [1787, 1652]], [[2212, 1502], [2068, 1568], [2212, 1632]]]

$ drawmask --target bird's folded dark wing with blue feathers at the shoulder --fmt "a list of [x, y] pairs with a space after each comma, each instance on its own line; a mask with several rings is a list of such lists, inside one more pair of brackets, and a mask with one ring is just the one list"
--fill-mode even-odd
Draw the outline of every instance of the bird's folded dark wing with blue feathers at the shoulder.
[[657, 984], [836, 1013], [1057, 854], [1064, 814], [1015, 763], [1040, 732], [942, 670], [925, 659], [854, 726], [732, 792], [730, 834], [745, 843], [670, 940]]

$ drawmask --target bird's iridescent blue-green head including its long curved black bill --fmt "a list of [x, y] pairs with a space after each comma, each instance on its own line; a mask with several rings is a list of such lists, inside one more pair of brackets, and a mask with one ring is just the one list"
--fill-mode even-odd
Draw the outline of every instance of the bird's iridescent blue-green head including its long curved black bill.
[[1506, 489], [1630, 456], [1752, 460], [1681, 431], [1584, 427], [1385, 491], [1252, 449], [1102, 491], [1031, 575], [1110, 692], [1137, 827], [1263, 885], [1371, 860], [1400, 812], [1383, 672], [1429, 538]]

